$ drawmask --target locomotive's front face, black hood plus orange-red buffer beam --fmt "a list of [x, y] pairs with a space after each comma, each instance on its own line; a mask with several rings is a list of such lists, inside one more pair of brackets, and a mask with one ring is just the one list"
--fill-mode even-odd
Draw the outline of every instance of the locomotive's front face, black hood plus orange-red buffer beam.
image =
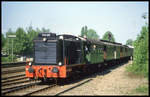
[[26, 65], [26, 77], [34, 79], [65, 78], [63, 41], [54, 33], [40, 33], [34, 39], [34, 60]]

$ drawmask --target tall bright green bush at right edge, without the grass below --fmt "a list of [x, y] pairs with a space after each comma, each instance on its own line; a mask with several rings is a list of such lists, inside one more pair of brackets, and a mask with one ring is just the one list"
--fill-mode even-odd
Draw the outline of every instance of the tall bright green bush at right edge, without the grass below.
[[133, 64], [127, 70], [135, 74], [144, 75], [148, 77], [148, 26], [143, 26], [140, 35], [133, 43], [134, 54]]

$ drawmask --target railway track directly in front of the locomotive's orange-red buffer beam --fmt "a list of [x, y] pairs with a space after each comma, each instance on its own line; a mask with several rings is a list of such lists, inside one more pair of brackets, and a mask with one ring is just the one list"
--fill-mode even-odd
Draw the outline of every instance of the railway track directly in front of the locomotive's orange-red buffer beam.
[[57, 86], [56, 83], [42, 83], [41, 81], [35, 81], [33, 83], [14, 86], [10, 88], [2, 89], [2, 95], [20, 95], [30, 96], [37, 92], [47, 90], [49, 88]]

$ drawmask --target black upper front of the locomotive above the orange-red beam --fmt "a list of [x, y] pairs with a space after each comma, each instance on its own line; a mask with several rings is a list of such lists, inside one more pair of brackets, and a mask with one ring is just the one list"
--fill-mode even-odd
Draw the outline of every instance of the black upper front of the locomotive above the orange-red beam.
[[63, 44], [54, 33], [41, 33], [34, 40], [35, 65], [64, 65]]

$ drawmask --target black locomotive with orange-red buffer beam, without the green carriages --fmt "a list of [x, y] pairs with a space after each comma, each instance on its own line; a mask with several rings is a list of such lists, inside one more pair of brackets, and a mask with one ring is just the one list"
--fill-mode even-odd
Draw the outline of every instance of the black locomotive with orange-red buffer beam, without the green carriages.
[[72, 35], [40, 33], [34, 39], [34, 62], [26, 66], [26, 77], [66, 78], [68, 65], [82, 63], [82, 42]]

